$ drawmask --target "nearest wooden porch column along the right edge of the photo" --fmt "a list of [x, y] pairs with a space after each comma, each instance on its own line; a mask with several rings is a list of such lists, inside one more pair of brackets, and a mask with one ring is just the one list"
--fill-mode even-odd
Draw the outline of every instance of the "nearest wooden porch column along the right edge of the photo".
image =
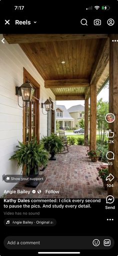
[[109, 123], [109, 129], [114, 132], [114, 143], [108, 144], [108, 151], [114, 153], [114, 160], [109, 160], [112, 166], [108, 166], [108, 169], [115, 178], [109, 183], [113, 187], [108, 188], [108, 195], [118, 197], [118, 44], [112, 40], [118, 40], [118, 34], [109, 38], [109, 113], [115, 115], [115, 120]]

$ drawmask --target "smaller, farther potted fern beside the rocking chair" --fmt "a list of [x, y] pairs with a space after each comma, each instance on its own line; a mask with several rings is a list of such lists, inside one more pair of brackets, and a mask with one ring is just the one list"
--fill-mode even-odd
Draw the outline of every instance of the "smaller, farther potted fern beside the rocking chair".
[[61, 152], [63, 148], [61, 139], [55, 134], [51, 134], [48, 137], [44, 136], [41, 140], [41, 144], [43, 145], [44, 149], [50, 153], [51, 157], [49, 160], [56, 160], [55, 154], [57, 152]]

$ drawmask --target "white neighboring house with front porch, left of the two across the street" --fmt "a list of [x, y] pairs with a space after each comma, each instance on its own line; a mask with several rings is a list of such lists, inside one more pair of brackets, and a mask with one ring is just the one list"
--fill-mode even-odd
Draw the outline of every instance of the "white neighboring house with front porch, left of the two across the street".
[[56, 105], [56, 121], [59, 122], [59, 129], [74, 127], [74, 118], [63, 105]]

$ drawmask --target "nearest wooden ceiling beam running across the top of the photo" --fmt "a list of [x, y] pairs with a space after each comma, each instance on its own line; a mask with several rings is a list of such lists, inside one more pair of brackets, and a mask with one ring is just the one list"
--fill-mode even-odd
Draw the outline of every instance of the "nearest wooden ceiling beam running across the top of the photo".
[[107, 38], [107, 34], [3, 34], [9, 44]]

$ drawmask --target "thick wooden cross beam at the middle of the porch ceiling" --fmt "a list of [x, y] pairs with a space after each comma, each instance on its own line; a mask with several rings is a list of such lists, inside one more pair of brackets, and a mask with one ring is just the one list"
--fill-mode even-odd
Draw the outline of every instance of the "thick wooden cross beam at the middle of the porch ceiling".
[[88, 79], [63, 79], [63, 80], [45, 80], [45, 88], [66, 88], [66, 87], [87, 87]]

